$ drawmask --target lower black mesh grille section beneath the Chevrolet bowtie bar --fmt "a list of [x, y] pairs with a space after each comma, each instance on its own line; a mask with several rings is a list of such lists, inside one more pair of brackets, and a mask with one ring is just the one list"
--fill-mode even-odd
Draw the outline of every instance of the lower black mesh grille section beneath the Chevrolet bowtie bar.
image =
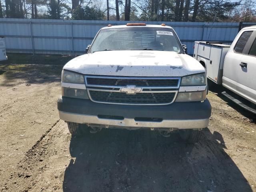
[[106, 92], [89, 90], [92, 100], [120, 104], [166, 104], [174, 99], [174, 92], [167, 93], [137, 93]]

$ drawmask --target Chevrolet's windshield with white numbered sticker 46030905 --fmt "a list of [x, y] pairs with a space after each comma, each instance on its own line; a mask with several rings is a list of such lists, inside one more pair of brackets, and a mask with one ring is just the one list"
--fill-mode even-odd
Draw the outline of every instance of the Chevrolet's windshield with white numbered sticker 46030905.
[[105, 50], [161, 50], [184, 53], [169, 28], [112, 28], [100, 30], [90, 52]]

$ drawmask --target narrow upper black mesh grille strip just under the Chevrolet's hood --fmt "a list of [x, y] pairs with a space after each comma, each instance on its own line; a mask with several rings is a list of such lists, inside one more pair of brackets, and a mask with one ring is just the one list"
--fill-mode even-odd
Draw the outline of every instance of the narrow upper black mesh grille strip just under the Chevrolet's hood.
[[127, 78], [89, 78], [87, 77], [87, 84], [89, 85], [104, 85], [104, 86], [162, 86], [162, 87], [176, 87], [178, 86], [178, 79], [127, 79]]

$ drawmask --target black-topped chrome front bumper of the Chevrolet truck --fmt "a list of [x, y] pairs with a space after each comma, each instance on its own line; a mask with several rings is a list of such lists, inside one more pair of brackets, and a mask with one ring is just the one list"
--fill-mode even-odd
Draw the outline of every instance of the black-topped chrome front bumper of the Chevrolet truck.
[[[60, 119], [81, 124], [112, 126], [121, 128], [206, 128], [211, 116], [211, 105], [204, 102], [174, 102], [163, 106], [133, 106], [99, 104], [87, 99], [60, 97], [58, 99]], [[122, 120], [99, 118], [98, 116], [122, 116]], [[160, 122], [140, 121], [136, 118], [160, 118]]]

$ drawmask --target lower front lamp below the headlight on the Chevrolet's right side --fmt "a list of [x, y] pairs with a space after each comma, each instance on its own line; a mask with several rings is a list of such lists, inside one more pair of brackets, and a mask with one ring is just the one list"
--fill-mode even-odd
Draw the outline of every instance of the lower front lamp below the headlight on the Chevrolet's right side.
[[194, 92], [179, 92], [175, 102], [193, 102], [206, 100], [206, 90]]

